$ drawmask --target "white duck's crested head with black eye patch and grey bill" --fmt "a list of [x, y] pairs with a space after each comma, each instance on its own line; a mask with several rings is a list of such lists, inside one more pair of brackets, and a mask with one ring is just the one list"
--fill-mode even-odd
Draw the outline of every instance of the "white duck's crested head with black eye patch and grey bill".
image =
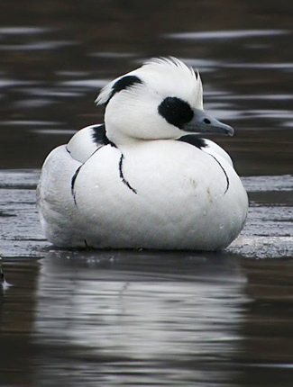
[[233, 128], [204, 111], [198, 72], [177, 58], [154, 58], [119, 76], [102, 89], [96, 103], [106, 104], [106, 136], [117, 145], [186, 134], [233, 135]]

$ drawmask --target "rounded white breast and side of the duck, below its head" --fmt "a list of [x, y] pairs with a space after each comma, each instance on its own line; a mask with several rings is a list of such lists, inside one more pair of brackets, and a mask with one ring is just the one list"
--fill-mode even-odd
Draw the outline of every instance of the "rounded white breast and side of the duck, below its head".
[[223, 157], [173, 140], [98, 149], [74, 190], [97, 247], [215, 249], [235, 238], [247, 212], [243, 185]]

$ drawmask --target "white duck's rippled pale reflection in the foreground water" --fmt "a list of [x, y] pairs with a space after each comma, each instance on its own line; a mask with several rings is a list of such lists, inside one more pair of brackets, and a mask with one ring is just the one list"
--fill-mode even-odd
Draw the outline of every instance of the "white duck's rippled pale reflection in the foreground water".
[[231, 383], [248, 301], [237, 263], [185, 254], [68, 255], [41, 261], [32, 347], [24, 346], [32, 383]]

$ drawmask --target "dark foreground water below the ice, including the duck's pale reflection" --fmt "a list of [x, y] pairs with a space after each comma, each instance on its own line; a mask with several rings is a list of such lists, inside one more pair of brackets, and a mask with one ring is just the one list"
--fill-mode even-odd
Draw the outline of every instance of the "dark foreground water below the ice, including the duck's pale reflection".
[[4, 385], [292, 380], [291, 260], [51, 250], [5, 269]]

